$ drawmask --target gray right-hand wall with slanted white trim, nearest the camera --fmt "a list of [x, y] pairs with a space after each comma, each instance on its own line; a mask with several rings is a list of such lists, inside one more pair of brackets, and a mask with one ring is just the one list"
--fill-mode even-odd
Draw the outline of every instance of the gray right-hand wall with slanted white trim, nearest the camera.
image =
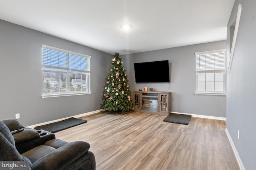
[[[236, 0], [227, 26], [242, 14], [230, 73], [227, 74], [227, 129], [246, 170], [256, 167], [256, 1]], [[230, 47], [228, 43], [227, 47]], [[238, 139], [238, 130], [240, 139]]]

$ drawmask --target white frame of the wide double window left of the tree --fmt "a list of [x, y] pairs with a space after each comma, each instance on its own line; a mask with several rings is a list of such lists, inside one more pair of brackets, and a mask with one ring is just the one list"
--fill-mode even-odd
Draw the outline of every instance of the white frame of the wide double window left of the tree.
[[[62, 52], [62, 53], [66, 53], [66, 67], [61, 67], [61, 66], [52, 66], [51, 64], [44, 64], [44, 57], [43, 57], [43, 49], [50, 49], [50, 50], [55, 50], [58, 52]], [[86, 57], [88, 58], [88, 60], [86, 60], [86, 62], [88, 62], [88, 68], [86, 68], [86, 70], [81, 70], [74, 68], [74, 66], [70, 67], [69, 64], [69, 57], [70, 55], [74, 55], [76, 57]], [[58, 56], [59, 57], [59, 56]], [[56, 47], [50, 47], [48, 45], [42, 45], [42, 73], [44, 74], [44, 72], [50, 72], [50, 73], [65, 73], [66, 74], [66, 89], [65, 92], [49, 92], [49, 93], [44, 93], [44, 90], [42, 91], [42, 98], [51, 98], [51, 97], [60, 97], [60, 96], [74, 96], [74, 95], [84, 95], [84, 94], [92, 94], [92, 92], [90, 91], [90, 59], [91, 56], [89, 55], [84, 55], [84, 54], [80, 54], [80, 53], [75, 53], [72, 51], [67, 51], [64, 49], [59, 49]], [[67, 66], [68, 65], [68, 66]], [[73, 67], [73, 68], [72, 68]], [[70, 81], [70, 74], [81, 74], [86, 76], [86, 91], [83, 91], [81, 89], [81, 91], [70, 91], [71, 88], [71, 83], [72, 81]], [[68, 82], [67, 82], [68, 80]], [[42, 83], [44, 84], [44, 77], [42, 77]], [[81, 80], [82, 83], [82, 80]], [[43, 86], [44, 89], [44, 86]]]

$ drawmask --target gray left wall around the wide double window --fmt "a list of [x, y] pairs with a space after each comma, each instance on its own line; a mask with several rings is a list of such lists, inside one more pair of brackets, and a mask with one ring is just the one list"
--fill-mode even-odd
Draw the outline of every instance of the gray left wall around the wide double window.
[[[92, 56], [92, 94], [41, 98], [42, 47], [49, 45]], [[113, 55], [0, 20], [0, 119], [27, 126], [100, 109]]]

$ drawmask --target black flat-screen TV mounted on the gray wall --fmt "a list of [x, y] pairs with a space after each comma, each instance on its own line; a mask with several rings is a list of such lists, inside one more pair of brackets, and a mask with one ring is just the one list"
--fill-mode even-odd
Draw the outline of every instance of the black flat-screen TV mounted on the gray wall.
[[134, 63], [135, 82], [170, 82], [169, 61]]

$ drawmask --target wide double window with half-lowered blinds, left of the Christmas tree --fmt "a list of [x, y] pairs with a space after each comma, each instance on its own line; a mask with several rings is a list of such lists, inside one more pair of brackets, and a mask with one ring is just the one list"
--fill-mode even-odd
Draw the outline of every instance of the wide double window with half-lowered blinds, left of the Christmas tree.
[[42, 45], [43, 96], [90, 93], [90, 56]]

